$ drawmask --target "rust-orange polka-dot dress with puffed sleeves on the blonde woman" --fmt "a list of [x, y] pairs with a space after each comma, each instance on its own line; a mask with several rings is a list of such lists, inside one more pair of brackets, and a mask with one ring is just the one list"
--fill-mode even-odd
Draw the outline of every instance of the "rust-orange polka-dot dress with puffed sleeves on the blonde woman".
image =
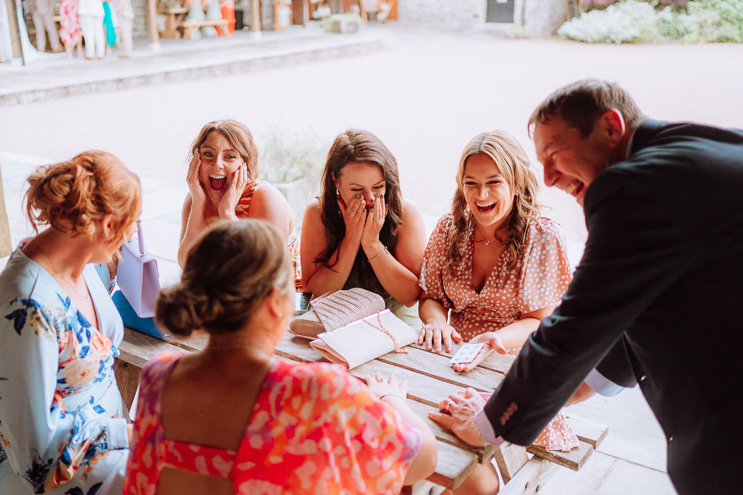
[[[451, 226], [451, 214], [438, 220], [426, 246], [420, 285], [429, 297], [451, 310], [449, 324], [464, 341], [510, 325], [525, 313], [558, 304], [568, 289], [572, 271], [565, 235], [554, 220], [532, 220], [522, 259], [515, 266], [508, 266], [507, 251], [503, 250], [480, 292], [472, 286], [473, 232], [460, 246], [461, 260], [451, 272], [446, 271]], [[512, 352], [518, 354], [519, 350]], [[534, 445], [567, 451], [578, 446], [578, 439], [558, 413]]]

